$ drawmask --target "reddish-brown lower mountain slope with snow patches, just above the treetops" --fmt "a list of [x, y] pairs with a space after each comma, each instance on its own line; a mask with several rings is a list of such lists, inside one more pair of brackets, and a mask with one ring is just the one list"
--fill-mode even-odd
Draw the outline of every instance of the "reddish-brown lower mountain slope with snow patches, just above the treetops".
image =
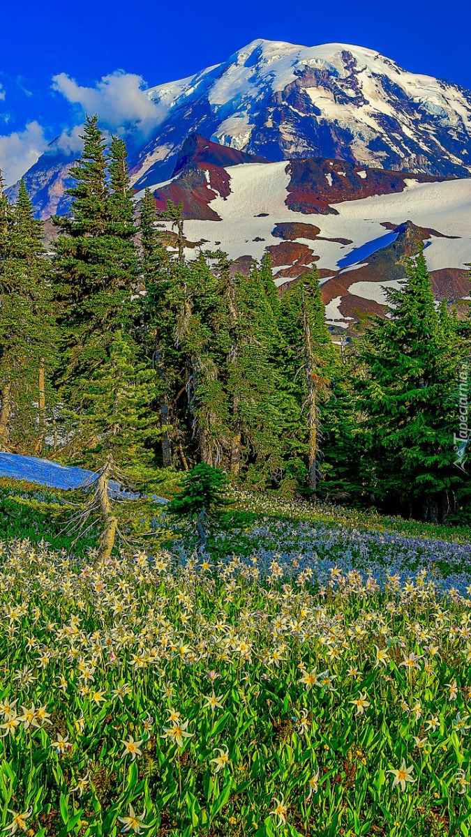
[[434, 180], [333, 160], [294, 163], [223, 168], [199, 155], [153, 193], [160, 208], [168, 198], [183, 200], [189, 259], [199, 248], [220, 248], [234, 270], [247, 270], [252, 259], [269, 254], [278, 286], [316, 264], [331, 326], [351, 328], [384, 311], [382, 286], [397, 287], [404, 257], [416, 254], [420, 242], [437, 300], [464, 311], [471, 178]]

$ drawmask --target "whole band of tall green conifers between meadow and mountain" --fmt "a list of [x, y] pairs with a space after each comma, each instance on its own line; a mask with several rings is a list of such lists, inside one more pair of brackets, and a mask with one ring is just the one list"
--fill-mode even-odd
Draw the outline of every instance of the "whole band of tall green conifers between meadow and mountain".
[[124, 141], [96, 116], [70, 176], [48, 250], [24, 183], [13, 206], [0, 187], [3, 450], [105, 484], [204, 462], [283, 496], [469, 519], [455, 434], [471, 321], [437, 309], [422, 252], [390, 316], [339, 347], [316, 270], [280, 296], [267, 258], [248, 275], [220, 251], [187, 261], [171, 203], [169, 248], [148, 190], [136, 210]]

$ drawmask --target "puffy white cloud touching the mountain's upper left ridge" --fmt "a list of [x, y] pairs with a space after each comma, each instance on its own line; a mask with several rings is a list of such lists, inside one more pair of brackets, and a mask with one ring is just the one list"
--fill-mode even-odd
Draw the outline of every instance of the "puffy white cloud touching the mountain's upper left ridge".
[[98, 114], [101, 124], [116, 131], [136, 126], [147, 133], [162, 121], [167, 111], [148, 98], [142, 90], [140, 75], [116, 71], [105, 75], [95, 87], [82, 87], [66, 73], [53, 77], [53, 88], [58, 90], [82, 113]]

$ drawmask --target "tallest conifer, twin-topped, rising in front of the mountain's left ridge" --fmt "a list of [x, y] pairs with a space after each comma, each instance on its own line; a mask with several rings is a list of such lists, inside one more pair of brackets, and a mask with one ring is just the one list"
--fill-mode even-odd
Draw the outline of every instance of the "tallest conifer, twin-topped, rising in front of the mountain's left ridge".
[[84, 150], [70, 170], [70, 218], [58, 219], [61, 235], [54, 267], [65, 333], [61, 392], [72, 407], [85, 406], [85, 382], [106, 363], [116, 331], [132, 331], [136, 304], [137, 249], [126, 148], [106, 140], [96, 116], [87, 117]]

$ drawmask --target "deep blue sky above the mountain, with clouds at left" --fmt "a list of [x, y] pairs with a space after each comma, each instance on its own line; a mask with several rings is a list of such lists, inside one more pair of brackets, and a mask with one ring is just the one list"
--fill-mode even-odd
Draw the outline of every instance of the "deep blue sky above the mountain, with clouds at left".
[[468, 0], [6, 0], [2, 18], [0, 167], [10, 182], [54, 136], [80, 124], [84, 99], [93, 103], [104, 77], [141, 77], [129, 77], [132, 95], [141, 80], [182, 78], [256, 38], [370, 47], [411, 72], [471, 88]]

